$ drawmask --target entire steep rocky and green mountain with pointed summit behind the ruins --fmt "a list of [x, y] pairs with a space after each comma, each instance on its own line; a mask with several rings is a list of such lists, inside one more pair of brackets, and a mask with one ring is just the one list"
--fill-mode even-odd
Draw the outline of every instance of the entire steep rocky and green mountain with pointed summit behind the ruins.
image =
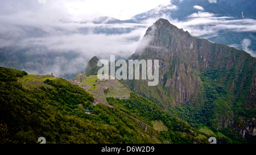
[[123, 83], [171, 114], [195, 127], [256, 136], [256, 58], [245, 51], [197, 39], [159, 19], [128, 59], [159, 60], [158, 86]]

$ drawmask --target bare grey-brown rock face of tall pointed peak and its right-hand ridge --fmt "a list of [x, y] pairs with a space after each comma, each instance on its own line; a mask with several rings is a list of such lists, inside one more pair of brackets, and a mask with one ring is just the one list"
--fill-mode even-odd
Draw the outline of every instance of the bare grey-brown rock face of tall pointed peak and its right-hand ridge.
[[[200, 75], [205, 70], [216, 69], [220, 72], [232, 72], [237, 76], [232, 76], [233, 85], [231, 82], [225, 83], [230, 78], [228, 77], [229, 75], [224, 74], [223, 81], [221, 81], [232, 92], [239, 91], [241, 93], [243, 91], [241, 88], [246, 82], [249, 83], [251, 91], [250, 93], [247, 92], [249, 98], [247, 103], [255, 107], [255, 103], [253, 103], [255, 101], [256, 87], [255, 74], [240, 74], [245, 67], [251, 67], [253, 68], [251, 70], [255, 72], [255, 58], [244, 51], [224, 44], [210, 43], [205, 39], [197, 39], [191, 36], [188, 31], [177, 28], [166, 19], [159, 19], [148, 28], [141, 46], [128, 59], [159, 60], [160, 87], [156, 89], [165, 93], [163, 97], [158, 98], [157, 96], [159, 95], [154, 96], [153, 94], [152, 96], [147, 94], [146, 91], [137, 87], [134, 82], [133, 84], [129, 81], [125, 82], [147, 97], [154, 97], [162, 102], [170, 102], [169, 104], [193, 104], [196, 101], [196, 104], [199, 104], [198, 102], [202, 104], [204, 100], [196, 100], [197, 96], [204, 91]], [[246, 61], [249, 61], [250, 64], [245, 63]], [[238, 78], [243, 80], [239, 81]], [[152, 89], [152, 87], [148, 87], [148, 89]]]

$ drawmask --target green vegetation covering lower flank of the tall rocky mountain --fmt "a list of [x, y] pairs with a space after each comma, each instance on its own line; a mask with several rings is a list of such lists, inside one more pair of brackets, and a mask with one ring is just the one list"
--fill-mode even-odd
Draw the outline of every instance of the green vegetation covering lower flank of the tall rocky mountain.
[[[246, 143], [247, 141], [238, 132], [230, 127], [223, 128], [222, 123], [232, 122], [234, 114], [239, 116], [242, 113], [243, 115], [239, 117], [243, 119], [250, 118], [256, 115], [256, 111], [252, 108], [244, 108], [245, 103], [240, 104], [240, 107], [235, 104], [238, 100], [235, 94], [230, 93], [225, 85], [219, 84], [220, 80], [223, 80], [220, 78], [222, 77], [220, 74], [226, 73], [217, 72], [217, 70], [207, 70], [201, 74], [205, 90], [203, 93], [207, 98], [203, 106], [195, 107], [191, 104], [181, 104], [181, 106], [170, 108], [170, 112], [177, 116], [177, 118], [192, 125], [192, 127], [199, 129], [199, 132], [205, 136], [208, 134], [201, 132], [203, 127], [207, 128], [208, 132], [215, 132], [213, 135], [218, 137], [221, 143]], [[224, 118], [225, 120], [218, 118]]]

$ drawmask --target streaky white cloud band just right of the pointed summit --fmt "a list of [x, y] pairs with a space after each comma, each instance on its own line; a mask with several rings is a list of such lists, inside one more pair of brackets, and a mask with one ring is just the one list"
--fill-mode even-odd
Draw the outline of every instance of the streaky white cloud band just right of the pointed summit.
[[255, 19], [233, 19], [229, 16], [217, 17], [209, 12], [197, 12], [188, 16], [185, 21], [170, 19], [172, 24], [191, 33], [192, 36], [217, 35], [221, 30], [234, 32], [256, 32]]

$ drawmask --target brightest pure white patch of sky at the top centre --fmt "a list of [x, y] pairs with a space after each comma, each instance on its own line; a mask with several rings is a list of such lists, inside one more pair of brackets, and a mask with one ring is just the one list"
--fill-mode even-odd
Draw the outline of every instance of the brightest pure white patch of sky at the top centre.
[[63, 3], [67, 7], [68, 12], [77, 18], [82, 18], [83, 15], [100, 15], [125, 20], [168, 2], [170, 0], [75, 0], [64, 1]]

